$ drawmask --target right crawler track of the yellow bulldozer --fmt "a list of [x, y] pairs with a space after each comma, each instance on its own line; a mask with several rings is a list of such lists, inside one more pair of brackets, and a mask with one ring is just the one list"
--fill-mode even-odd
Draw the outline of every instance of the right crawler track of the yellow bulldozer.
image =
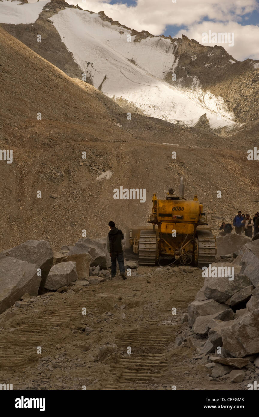
[[216, 241], [214, 235], [209, 230], [199, 230], [196, 233], [199, 243], [198, 268], [208, 266], [215, 262]]

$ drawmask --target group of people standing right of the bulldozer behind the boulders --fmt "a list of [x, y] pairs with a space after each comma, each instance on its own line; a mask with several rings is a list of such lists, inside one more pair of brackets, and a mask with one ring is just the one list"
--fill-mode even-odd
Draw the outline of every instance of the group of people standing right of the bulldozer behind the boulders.
[[[242, 211], [239, 210], [237, 216], [233, 219], [233, 226], [235, 228], [235, 232], [237, 234], [244, 233], [245, 236], [252, 237], [253, 235], [253, 226], [254, 226], [254, 236], [259, 233], [259, 212], [254, 214], [253, 219], [250, 217], [249, 214], [242, 214]], [[220, 226], [219, 233], [221, 236], [226, 236], [226, 234], [231, 233], [233, 230], [232, 225], [230, 223], [222, 222]]]

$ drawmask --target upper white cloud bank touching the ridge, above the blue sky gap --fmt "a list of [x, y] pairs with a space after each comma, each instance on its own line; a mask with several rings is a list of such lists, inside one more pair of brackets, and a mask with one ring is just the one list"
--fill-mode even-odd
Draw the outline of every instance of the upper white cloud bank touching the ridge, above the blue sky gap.
[[[119, 1], [119, 0], [118, 0]], [[227, 22], [238, 20], [245, 13], [258, 8], [256, 0], [138, 0], [136, 6], [105, 3], [100, 0], [67, 0], [82, 9], [93, 12], [103, 10], [113, 20], [136, 30], [148, 30], [153, 35], [161, 35], [167, 25], [191, 25], [205, 16], [209, 20]]]

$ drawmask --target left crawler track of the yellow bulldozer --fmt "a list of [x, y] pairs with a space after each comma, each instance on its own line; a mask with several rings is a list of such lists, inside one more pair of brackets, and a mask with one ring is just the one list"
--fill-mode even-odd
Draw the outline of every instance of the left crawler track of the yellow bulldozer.
[[139, 264], [155, 265], [157, 234], [153, 230], [142, 230], [139, 234]]

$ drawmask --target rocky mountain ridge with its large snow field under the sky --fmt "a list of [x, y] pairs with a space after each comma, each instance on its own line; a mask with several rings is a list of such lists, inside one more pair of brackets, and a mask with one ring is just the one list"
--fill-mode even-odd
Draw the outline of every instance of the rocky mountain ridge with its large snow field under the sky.
[[[9, 1], [2, 3], [6, 7]], [[186, 126], [206, 113], [212, 128], [258, 117], [258, 61], [234, 60], [222, 46], [137, 32], [103, 12], [62, 0], [45, 4], [33, 23], [2, 26], [67, 75], [83, 76], [125, 111]]]

